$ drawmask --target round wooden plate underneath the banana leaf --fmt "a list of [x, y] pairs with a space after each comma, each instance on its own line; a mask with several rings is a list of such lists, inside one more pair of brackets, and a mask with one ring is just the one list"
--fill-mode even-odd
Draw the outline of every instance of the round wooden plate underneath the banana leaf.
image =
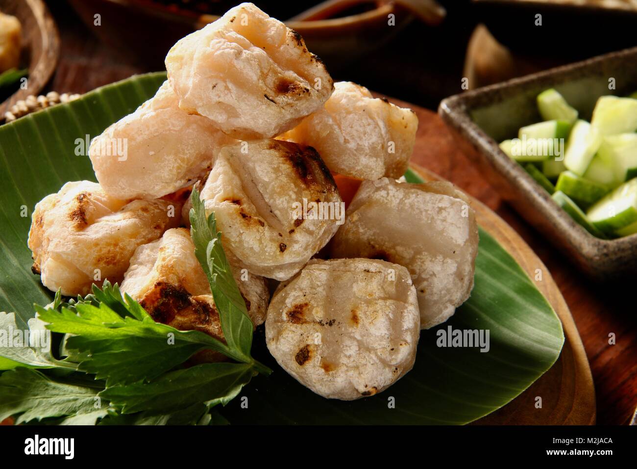
[[[412, 163], [414, 172], [426, 180], [442, 179]], [[469, 196], [471, 197], [471, 196]], [[474, 422], [483, 425], [592, 425], [595, 423], [595, 388], [582, 339], [559, 288], [539, 257], [512, 227], [476, 198], [471, 197], [478, 224], [515, 258], [550, 302], [564, 327], [564, 347], [557, 362], [520, 396], [496, 412]], [[536, 280], [536, 269], [541, 280]], [[539, 276], [538, 276], [539, 278]], [[536, 398], [542, 398], [536, 408]]]

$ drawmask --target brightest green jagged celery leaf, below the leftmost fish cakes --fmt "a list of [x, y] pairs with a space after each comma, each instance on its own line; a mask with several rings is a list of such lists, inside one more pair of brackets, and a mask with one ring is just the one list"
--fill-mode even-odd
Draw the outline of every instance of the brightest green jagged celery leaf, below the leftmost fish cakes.
[[99, 308], [77, 304], [76, 310], [77, 315], [67, 308], [38, 308], [38, 313], [47, 329], [75, 334], [66, 339], [65, 348], [80, 352], [73, 354], [81, 360], [79, 369], [106, 378], [108, 386], [152, 380], [204, 348], [228, 352], [227, 346], [203, 332], [140, 321], [132, 313], [122, 318], [106, 303]]

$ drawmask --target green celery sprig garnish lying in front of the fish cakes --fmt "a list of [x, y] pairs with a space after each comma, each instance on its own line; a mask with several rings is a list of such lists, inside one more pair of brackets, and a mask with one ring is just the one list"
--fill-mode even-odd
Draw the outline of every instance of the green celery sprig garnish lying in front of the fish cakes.
[[[0, 420], [48, 424], [226, 423], [213, 407], [226, 405], [257, 373], [252, 321], [225, 257], [214, 214], [206, 216], [192, 193], [190, 235], [219, 313], [225, 343], [199, 331], [155, 322], [117, 284], [95, 285], [68, 302], [59, 294], [29, 322], [35, 331], [64, 334], [62, 355], [0, 341]], [[0, 313], [0, 329], [18, 329], [13, 313]], [[211, 349], [234, 362], [183, 364]]]

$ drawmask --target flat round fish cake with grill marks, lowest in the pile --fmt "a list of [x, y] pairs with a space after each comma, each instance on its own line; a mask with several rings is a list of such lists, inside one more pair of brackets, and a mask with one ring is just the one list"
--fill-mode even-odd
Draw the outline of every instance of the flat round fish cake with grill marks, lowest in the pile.
[[412, 369], [419, 333], [409, 272], [382, 260], [311, 260], [279, 285], [266, 317], [278, 364], [333, 399], [387, 389]]

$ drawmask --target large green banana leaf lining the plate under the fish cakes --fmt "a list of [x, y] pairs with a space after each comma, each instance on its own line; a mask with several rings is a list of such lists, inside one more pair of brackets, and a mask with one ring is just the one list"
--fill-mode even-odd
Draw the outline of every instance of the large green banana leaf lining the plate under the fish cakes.
[[[15, 311], [25, 323], [34, 302], [51, 301], [30, 269], [26, 241], [34, 205], [66, 181], [94, 181], [82, 140], [132, 112], [165, 78], [131, 77], [0, 127], [0, 311]], [[439, 347], [437, 331], [448, 327], [488, 330], [489, 351]], [[259, 328], [253, 355], [275, 372], [244, 389], [249, 411], [241, 406], [245, 399], [234, 399], [220, 412], [232, 423], [466, 424], [529, 387], [554, 364], [563, 343], [561, 322], [547, 300], [480, 230], [471, 298], [445, 324], [420, 334], [415, 367], [387, 391], [349, 402], [321, 398], [276, 364]]]

